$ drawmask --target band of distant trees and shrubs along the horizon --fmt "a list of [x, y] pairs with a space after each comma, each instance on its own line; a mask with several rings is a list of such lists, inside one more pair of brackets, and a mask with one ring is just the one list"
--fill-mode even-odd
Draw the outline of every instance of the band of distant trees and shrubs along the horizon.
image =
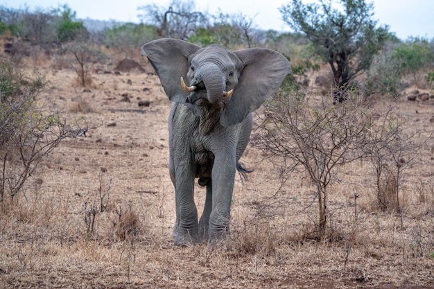
[[78, 39], [92, 49], [111, 49], [123, 58], [139, 57], [142, 44], [161, 37], [229, 49], [268, 47], [290, 58], [292, 79], [299, 84], [305, 81], [306, 73], [329, 65], [329, 87], [337, 100], [345, 98], [338, 96], [338, 91], [347, 91], [355, 83], [363, 85], [367, 95], [398, 96], [410, 85], [433, 87], [433, 40], [399, 40], [388, 26], [377, 26], [372, 19], [374, 7], [365, 1], [340, 0], [340, 6], [342, 9], [336, 10], [328, 1], [306, 5], [300, 0], [288, 1], [280, 12], [295, 33], [259, 30], [254, 17], [243, 12], [200, 12], [192, 0], [173, 0], [167, 7], [140, 6], [140, 24], [82, 21], [67, 4], [35, 10], [3, 6], [0, 35], [13, 39], [6, 44], [6, 51], [31, 56], [35, 62], [42, 53], [71, 53], [65, 46], [71, 47]]

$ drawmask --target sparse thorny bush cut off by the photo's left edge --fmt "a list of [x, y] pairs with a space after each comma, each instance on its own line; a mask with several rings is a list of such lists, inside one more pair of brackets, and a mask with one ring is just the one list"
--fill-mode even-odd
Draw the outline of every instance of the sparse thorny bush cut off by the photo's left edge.
[[[46, 89], [43, 77], [26, 78], [17, 63], [0, 61], [0, 203], [6, 209], [62, 139], [76, 137], [78, 123], [67, 123], [37, 98]], [[46, 99], [46, 95], [45, 95]]]

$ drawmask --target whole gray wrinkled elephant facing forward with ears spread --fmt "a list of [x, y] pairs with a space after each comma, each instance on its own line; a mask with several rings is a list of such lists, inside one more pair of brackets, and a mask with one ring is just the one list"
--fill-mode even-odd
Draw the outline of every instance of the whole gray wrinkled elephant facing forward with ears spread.
[[[169, 172], [175, 187], [176, 245], [211, 243], [229, 233], [236, 168], [252, 130], [252, 112], [290, 73], [286, 58], [270, 49], [228, 51], [182, 40], [142, 46], [173, 102], [169, 116]], [[193, 91], [182, 89], [180, 78]], [[231, 96], [227, 93], [234, 89]], [[226, 96], [225, 96], [226, 95]], [[198, 221], [194, 179], [207, 187]]]

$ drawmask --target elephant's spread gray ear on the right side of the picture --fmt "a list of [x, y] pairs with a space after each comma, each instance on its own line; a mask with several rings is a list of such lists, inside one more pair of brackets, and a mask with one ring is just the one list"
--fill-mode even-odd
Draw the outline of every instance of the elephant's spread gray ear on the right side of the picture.
[[291, 72], [284, 55], [271, 49], [243, 49], [234, 51], [244, 64], [238, 86], [220, 116], [220, 124], [228, 127], [241, 123], [277, 89]]

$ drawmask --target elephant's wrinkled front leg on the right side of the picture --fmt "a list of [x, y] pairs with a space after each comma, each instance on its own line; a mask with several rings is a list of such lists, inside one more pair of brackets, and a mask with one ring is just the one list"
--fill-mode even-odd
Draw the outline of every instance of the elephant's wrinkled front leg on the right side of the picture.
[[212, 211], [208, 236], [211, 243], [229, 234], [229, 221], [234, 190], [236, 157], [233, 154], [216, 157], [212, 170]]

